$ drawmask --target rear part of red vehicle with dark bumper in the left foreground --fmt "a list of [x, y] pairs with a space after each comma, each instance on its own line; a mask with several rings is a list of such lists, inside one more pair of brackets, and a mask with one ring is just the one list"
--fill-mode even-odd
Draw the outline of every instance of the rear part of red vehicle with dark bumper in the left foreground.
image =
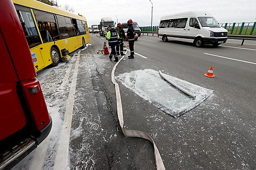
[[0, 169], [10, 169], [48, 136], [52, 121], [13, 3], [0, 5]]

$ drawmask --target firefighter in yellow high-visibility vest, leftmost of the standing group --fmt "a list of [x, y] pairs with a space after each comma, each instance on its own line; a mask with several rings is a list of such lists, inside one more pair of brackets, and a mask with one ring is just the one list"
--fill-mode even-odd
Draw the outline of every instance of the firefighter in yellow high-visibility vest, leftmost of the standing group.
[[112, 59], [114, 55], [115, 61], [117, 62], [118, 57], [116, 54], [116, 45], [118, 43], [119, 35], [116, 32], [116, 30], [111, 27], [111, 25], [108, 26], [108, 30], [109, 31], [107, 32], [106, 39], [108, 39], [108, 45], [111, 47], [111, 53], [109, 55], [109, 59]]

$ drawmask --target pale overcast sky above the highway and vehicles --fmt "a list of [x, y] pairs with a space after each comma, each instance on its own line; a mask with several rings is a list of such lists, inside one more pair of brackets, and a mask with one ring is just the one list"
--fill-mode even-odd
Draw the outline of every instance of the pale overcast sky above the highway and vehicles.
[[[159, 25], [163, 15], [185, 11], [209, 11], [219, 23], [256, 22], [256, 0], [151, 0], [153, 25]], [[149, 0], [57, 0], [58, 5], [68, 4], [75, 13], [86, 17], [88, 26], [99, 24], [100, 18], [112, 17], [117, 22], [129, 18], [140, 26], [150, 26], [152, 5]]]

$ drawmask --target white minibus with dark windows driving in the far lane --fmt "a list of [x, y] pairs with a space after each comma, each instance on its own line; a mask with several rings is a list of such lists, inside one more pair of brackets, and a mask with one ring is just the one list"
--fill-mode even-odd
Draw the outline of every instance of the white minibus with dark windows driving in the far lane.
[[161, 17], [158, 36], [164, 42], [170, 39], [190, 42], [196, 47], [218, 46], [227, 41], [228, 31], [220, 27], [211, 13], [189, 11]]

